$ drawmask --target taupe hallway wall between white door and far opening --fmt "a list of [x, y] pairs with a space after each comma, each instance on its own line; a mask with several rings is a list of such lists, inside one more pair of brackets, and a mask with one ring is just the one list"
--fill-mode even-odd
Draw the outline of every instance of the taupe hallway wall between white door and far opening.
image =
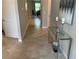
[[[17, 0], [20, 20], [21, 36], [24, 37], [29, 24], [32, 24], [31, 0]], [[25, 8], [27, 3], [27, 10]]]

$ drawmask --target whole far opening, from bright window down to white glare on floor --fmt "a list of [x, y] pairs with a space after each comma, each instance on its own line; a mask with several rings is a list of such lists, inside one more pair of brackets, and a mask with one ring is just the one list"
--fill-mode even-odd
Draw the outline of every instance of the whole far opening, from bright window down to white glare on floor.
[[41, 0], [33, 0], [32, 1], [32, 16], [33, 16], [35, 27], [41, 28], [42, 27]]

